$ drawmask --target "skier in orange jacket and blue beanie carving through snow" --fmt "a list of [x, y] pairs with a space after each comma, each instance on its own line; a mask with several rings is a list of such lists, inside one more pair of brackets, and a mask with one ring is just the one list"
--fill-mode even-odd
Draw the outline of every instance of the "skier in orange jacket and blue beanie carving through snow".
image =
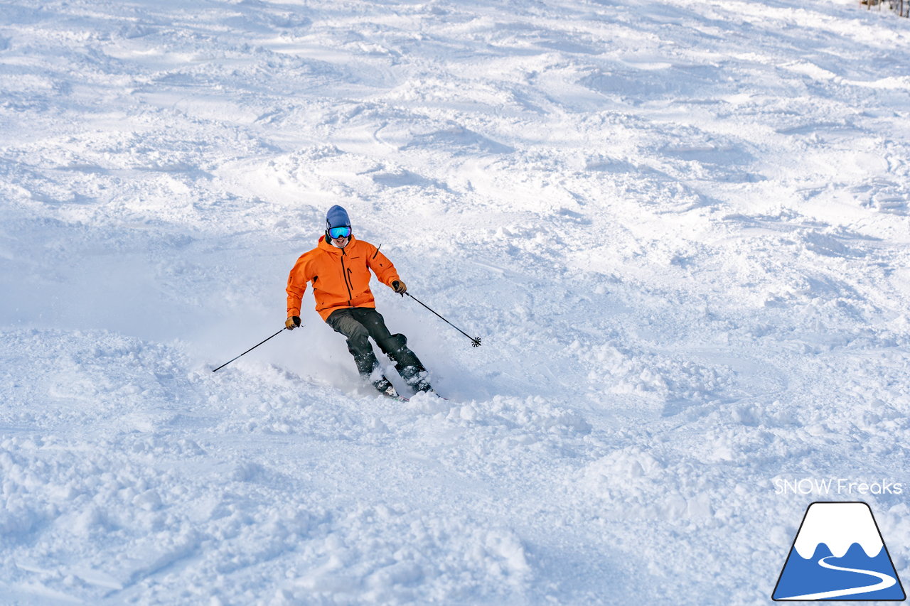
[[348, 351], [354, 357], [360, 377], [384, 395], [398, 394], [379, 369], [379, 360], [369, 345], [372, 337], [379, 348], [396, 364], [401, 378], [416, 391], [433, 389], [427, 370], [408, 348], [402, 334], [391, 334], [369, 291], [369, 270], [379, 281], [404, 295], [408, 287], [399, 278], [391, 261], [378, 247], [351, 234], [348, 212], [338, 205], [326, 214], [326, 233], [319, 245], [297, 259], [288, 276], [288, 319], [285, 328], [300, 326], [300, 304], [307, 282], [313, 285], [316, 311], [331, 328], [348, 338]]

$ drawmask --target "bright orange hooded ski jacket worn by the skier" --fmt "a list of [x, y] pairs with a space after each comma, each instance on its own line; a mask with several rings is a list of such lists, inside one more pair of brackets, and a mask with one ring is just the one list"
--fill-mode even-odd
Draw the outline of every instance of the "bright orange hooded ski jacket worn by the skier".
[[383, 284], [391, 287], [399, 279], [395, 266], [369, 242], [350, 237], [348, 246], [333, 247], [326, 237], [319, 245], [300, 255], [288, 276], [288, 318], [300, 315], [300, 302], [313, 284], [316, 310], [323, 320], [336, 309], [375, 308], [369, 291], [369, 270]]

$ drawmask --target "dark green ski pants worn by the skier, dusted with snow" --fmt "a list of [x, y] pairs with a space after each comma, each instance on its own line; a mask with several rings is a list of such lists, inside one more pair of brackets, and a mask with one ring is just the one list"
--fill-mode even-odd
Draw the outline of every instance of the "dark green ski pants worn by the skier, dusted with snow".
[[382, 314], [374, 308], [336, 309], [326, 323], [335, 332], [340, 332], [348, 338], [348, 351], [354, 357], [357, 371], [364, 379], [369, 380], [373, 371], [379, 368], [379, 360], [369, 345], [369, 337], [376, 341], [382, 353], [395, 362], [401, 379], [409, 385], [418, 383], [420, 373], [426, 372], [420, 359], [408, 348], [408, 338], [401, 334], [389, 333]]

